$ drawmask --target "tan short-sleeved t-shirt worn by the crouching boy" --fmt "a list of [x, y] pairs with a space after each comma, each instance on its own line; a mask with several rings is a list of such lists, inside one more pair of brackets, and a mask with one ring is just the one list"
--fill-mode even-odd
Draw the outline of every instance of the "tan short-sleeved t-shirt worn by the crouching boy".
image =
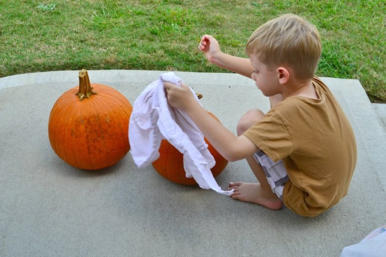
[[351, 125], [329, 88], [317, 77], [318, 100], [294, 96], [274, 106], [244, 135], [275, 162], [284, 160], [286, 207], [316, 216], [342, 199], [357, 163]]

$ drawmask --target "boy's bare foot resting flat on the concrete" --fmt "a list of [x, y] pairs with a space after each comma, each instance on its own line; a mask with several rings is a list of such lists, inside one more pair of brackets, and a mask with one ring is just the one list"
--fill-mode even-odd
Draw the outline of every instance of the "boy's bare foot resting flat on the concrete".
[[278, 210], [283, 206], [283, 202], [276, 196], [266, 197], [263, 195], [259, 183], [230, 182], [228, 190], [235, 189], [230, 196], [243, 202], [263, 205], [272, 210]]

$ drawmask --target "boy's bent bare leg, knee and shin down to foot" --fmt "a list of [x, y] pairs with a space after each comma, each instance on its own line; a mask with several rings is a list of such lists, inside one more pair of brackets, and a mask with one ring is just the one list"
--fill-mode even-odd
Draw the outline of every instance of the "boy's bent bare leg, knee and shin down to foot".
[[[237, 124], [237, 134], [240, 136], [263, 117], [264, 113], [262, 111], [257, 109], [249, 110]], [[256, 162], [252, 155], [247, 157], [246, 160], [260, 183], [231, 182], [229, 189], [235, 189], [231, 197], [244, 202], [260, 204], [270, 209], [280, 209], [283, 203], [272, 191], [262, 166]]]

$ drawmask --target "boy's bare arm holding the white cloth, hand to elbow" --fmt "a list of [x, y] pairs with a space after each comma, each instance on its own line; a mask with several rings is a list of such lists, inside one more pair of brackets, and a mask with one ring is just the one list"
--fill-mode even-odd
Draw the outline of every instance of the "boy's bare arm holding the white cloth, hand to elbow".
[[247, 137], [243, 135], [237, 137], [210, 116], [196, 101], [187, 85], [181, 84], [181, 87], [179, 87], [166, 82], [164, 87], [166, 88], [169, 105], [186, 111], [206, 139], [224, 158], [233, 162], [259, 151], [259, 148]]

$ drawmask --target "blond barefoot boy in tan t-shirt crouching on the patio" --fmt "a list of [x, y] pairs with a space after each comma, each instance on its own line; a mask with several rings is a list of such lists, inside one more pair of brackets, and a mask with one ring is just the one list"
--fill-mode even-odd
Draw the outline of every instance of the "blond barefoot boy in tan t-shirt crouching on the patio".
[[215, 65], [251, 77], [269, 97], [267, 114], [252, 109], [237, 134], [214, 120], [188, 86], [165, 83], [168, 102], [196, 122], [209, 142], [230, 161], [246, 158], [259, 183], [230, 183], [231, 197], [313, 217], [342, 199], [356, 166], [356, 141], [338, 102], [314, 77], [321, 55], [317, 29], [296, 15], [283, 15], [254, 31], [247, 58], [220, 51], [209, 35], [199, 49]]

